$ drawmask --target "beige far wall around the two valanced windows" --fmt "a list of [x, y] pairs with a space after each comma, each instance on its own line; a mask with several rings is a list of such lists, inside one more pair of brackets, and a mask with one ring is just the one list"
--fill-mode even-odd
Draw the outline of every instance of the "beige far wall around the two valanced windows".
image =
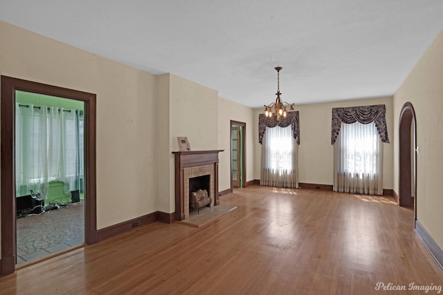
[[[379, 97], [371, 99], [355, 99], [343, 102], [323, 104], [302, 104], [296, 110], [300, 115], [300, 145], [298, 146], [298, 181], [314, 184], [332, 184], [334, 181], [334, 149], [331, 144], [332, 108], [345, 106], [369, 106], [372, 104], [386, 105], [386, 124], [390, 144], [383, 144], [383, 188], [392, 189], [393, 180], [393, 128], [392, 122], [392, 97]], [[262, 113], [256, 111], [256, 120]], [[258, 123], [255, 128], [258, 133]], [[258, 141], [258, 137], [257, 137]], [[261, 145], [255, 143], [255, 177], [260, 179], [260, 154]]]

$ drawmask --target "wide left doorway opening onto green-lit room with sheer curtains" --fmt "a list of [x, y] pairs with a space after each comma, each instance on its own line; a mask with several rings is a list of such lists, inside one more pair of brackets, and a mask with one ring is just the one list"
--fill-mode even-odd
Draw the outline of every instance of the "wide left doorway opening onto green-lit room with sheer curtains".
[[17, 266], [84, 243], [84, 102], [15, 91]]

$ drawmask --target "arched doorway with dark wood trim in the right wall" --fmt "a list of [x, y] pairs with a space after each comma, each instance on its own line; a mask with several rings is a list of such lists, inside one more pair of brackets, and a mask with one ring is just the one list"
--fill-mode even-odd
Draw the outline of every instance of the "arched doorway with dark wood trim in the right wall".
[[[414, 107], [406, 102], [399, 118], [399, 205], [416, 207], [416, 120]], [[415, 208], [415, 219], [417, 218]]]

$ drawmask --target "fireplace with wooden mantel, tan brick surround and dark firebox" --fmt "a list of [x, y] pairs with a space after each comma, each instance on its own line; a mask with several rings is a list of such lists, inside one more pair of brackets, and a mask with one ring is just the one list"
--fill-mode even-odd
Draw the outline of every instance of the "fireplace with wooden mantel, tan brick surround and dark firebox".
[[219, 204], [218, 153], [215, 151], [177, 151], [175, 158], [175, 219], [189, 217], [189, 193], [206, 189], [213, 199], [210, 207]]

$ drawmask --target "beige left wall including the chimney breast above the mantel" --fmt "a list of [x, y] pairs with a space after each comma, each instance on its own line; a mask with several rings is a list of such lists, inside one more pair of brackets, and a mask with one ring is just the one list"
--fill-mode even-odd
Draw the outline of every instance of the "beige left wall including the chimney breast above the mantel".
[[218, 149], [217, 91], [1, 21], [0, 31], [1, 75], [97, 95], [98, 229], [154, 211], [174, 212], [177, 136], [188, 136], [192, 150]]

